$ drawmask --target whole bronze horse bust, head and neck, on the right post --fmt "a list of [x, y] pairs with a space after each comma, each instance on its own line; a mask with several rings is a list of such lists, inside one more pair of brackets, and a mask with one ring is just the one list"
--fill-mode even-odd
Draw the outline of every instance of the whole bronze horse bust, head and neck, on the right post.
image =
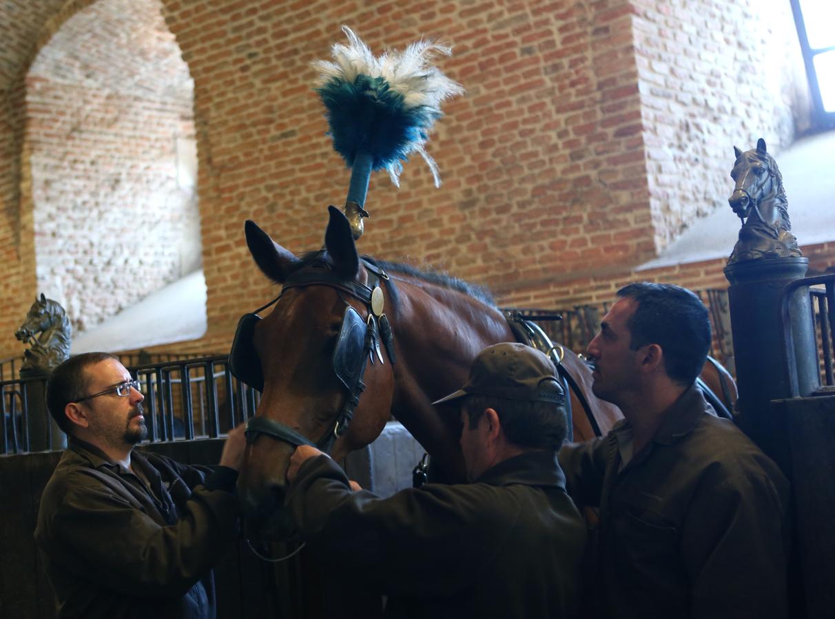
[[744, 153], [733, 147], [731, 179], [734, 187], [728, 203], [742, 220], [739, 240], [728, 264], [751, 259], [799, 257], [800, 248], [792, 234], [786, 192], [777, 162], [766, 152], [766, 142]]

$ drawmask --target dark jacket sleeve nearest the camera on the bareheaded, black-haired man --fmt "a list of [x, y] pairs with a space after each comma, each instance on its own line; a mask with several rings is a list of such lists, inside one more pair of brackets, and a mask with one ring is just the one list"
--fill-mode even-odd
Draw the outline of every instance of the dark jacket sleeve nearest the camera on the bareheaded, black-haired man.
[[786, 501], [767, 476], [703, 485], [681, 541], [691, 617], [788, 616], [786, 515]]

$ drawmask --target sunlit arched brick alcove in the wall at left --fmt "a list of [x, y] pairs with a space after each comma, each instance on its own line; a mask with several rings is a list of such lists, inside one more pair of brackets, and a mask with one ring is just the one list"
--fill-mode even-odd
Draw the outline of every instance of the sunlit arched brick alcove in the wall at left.
[[[77, 333], [181, 280], [195, 294], [193, 102], [194, 83], [159, 0], [90, 3], [61, 24], [29, 68], [23, 153], [31, 186], [23, 193], [33, 208], [38, 290], [63, 304]], [[202, 335], [201, 285], [198, 303], [168, 294], [164, 308], [176, 312], [182, 302], [201, 312], [196, 327], [167, 340], [149, 333], [99, 347]]]

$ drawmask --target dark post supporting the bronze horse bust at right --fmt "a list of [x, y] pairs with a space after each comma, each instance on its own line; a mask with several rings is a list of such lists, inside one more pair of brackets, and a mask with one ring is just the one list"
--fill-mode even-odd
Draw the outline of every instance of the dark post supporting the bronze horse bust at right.
[[[731, 331], [736, 355], [738, 423], [746, 435], [791, 473], [783, 421], [772, 400], [792, 397], [781, 316], [782, 290], [806, 275], [807, 258], [745, 260], [728, 264], [731, 283]], [[817, 388], [817, 355], [808, 290], [798, 289], [791, 301], [794, 350], [801, 396]]]

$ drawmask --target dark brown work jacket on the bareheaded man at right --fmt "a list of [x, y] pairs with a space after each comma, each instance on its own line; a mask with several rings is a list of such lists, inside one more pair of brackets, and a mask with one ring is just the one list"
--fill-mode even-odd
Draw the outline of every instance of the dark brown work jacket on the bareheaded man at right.
[[589, 616], [784, 619], [786, 478], [695, 387], [621, 467], [623, 420], [559, 452], [569, 494], [600, 506]]

